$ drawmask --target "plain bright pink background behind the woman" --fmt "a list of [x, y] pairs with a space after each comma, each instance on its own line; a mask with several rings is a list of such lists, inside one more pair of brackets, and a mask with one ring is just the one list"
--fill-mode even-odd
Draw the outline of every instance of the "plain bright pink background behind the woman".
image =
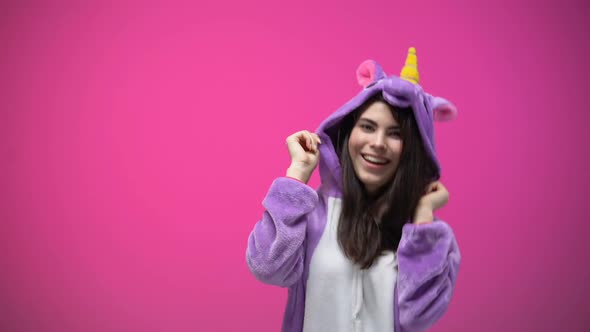
[[278, 331], [286, 291], [245, 249], [284, 139], [409, 46], [460, 112], [436, 130], [463, 262], [432, 330], [587, 330], [585, 1], [19, 3], [0, 9], [0, 331]]

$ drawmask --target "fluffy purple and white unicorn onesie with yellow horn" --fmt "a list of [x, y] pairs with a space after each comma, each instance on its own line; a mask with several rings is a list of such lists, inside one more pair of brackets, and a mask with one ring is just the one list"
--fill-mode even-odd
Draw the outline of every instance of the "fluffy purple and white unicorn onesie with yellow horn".
[[382, 94], [394, 107], [411, 108], [440, 177], [433, 123], [454, 119], [457, 110], [424, 92], [416, 65], [414, 48], [400, 77], [387, 76], [372, 60], [363, 62], [356, 72], [363, 90], [316, 131], [322, 142], [319, 188], [288, 177], [270, 186], [263, 217], [248, 239], [246, 261], [258, 280], [288, 288], [282, 331], [423, 331], [446, 312], [461, 260], [446, 222], [408, 221], [397, 250], [368, 269], [349, 260], [337, 241], [343, 180], [335, 135], [343, 118], [369, 98]]

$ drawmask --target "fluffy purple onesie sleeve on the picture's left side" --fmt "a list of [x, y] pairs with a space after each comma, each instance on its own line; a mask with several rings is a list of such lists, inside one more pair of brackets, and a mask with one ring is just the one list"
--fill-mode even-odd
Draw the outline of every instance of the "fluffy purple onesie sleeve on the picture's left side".
[[262, 205], [262, 220], [248, 239], [246, 262], [256, 279], [288, 287], [303, 273], [306, 215], [318, 203], [317, 193], [290, 178], [276, 179]]

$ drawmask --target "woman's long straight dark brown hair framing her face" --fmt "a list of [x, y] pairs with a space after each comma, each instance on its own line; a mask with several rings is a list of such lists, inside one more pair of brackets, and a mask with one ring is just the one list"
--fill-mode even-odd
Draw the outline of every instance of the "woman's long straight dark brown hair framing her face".
[[381, 94], [367, 100], [343, 120], [336, 144], [343, 177], [338, 242], [345, 255], [363, 269], [369, 268], [384, 251], [397, 250], [402, 227], [413, 218], [428, 184], [438, 178], [412, 110], [389, 106], [400, 125], [403, 141], [400, 161], [392, 180], [369, 195], [354, 171], [348, 140], [361, 114], [376, 101], [384, 101]]

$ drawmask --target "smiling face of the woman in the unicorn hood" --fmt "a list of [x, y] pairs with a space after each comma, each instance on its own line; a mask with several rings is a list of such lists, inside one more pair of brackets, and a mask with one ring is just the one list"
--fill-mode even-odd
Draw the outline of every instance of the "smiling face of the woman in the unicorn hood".
[[393, 178], [402, 145], [400, 127], [390, 106], [382, 101], [371, 104], [355, 123], [348, 140], [354, 171], [369, 193]]

